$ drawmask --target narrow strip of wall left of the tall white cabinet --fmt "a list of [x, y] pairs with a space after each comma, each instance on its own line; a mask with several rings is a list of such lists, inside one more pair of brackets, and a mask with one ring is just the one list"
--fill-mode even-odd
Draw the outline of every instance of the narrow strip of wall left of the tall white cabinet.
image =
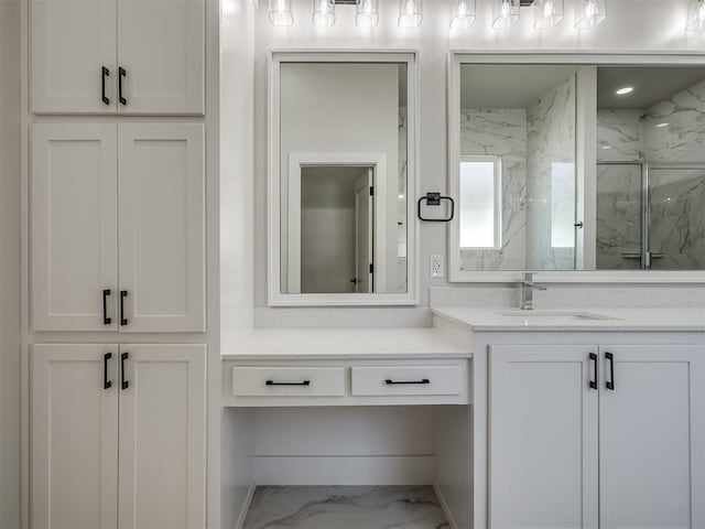
[[0, 527], [20, 527], [20, 2], [0, 1]]

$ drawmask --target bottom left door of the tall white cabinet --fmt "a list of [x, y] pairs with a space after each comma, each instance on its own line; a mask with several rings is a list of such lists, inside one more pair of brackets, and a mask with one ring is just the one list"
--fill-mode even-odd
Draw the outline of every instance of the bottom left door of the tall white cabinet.
[[32, 527], [118, 527], [117, 353], [115, 345], [33, 348]]

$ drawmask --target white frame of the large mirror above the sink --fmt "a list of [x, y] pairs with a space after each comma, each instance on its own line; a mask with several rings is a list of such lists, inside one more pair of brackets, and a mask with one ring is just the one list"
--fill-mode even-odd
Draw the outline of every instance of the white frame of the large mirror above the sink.
[[[596, 116], [592, 115], [586, 102], [596, 98], [594, 73], [589, 68], [581, 72], [579, 66], [603, 65], [639, 65], [639, 66], [703, 66], [705, 56], [702, 53], [542, 53], [528, 52], [471, 52], [452, 51], [448, 56], [448, 192], [452, 197], [458, 196], [458, 177], [460, 163], [460, 65], [463, 64], [561, 64], [578, 67], [577, 77], [577, 127], [576, 131], [576, 179], [578, 185], [584, 182], [594, 183], [597, 166]], [[592, 87], [592, 88], [590, 88]], [[594, 127], [593, 127], [594, 125]], [[595, 130], [595, 132], [590, 132]], [[583, 199], [576, 204], [577, 219], [595, 216], [595, 203], [586, 197], [594, 195], [594, 184], [585, 187]], [[705, 283], [705, 271], [666, 271], [666, 270], [473, 270], [460, 269], [459, 252], [459, 216], [449, 223], [448, 229], [448, 280], [454, 283], [514, 283], [522, 280], [524, 272], [533, 272], [536, 281], [542, 283]], [[583, 239], [595, 238], [594, 223], [585, 223], [578, 230], [576, 244], [576, 261], [585, 258], [581, 249]]]

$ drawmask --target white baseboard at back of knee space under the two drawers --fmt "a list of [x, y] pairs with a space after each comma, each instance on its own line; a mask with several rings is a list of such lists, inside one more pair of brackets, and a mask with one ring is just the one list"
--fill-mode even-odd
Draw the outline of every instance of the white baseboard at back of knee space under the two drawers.
[[253, 457], [258, 485], [427, 485], [433, 455]]

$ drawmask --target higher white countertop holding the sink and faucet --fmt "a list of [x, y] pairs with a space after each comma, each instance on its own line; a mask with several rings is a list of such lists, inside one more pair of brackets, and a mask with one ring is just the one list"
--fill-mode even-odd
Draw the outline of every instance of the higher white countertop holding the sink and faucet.
[[705, 332], [705, 309], [536, 309], [438, 307], [434, 317], [471, 331], [639, 331]]

